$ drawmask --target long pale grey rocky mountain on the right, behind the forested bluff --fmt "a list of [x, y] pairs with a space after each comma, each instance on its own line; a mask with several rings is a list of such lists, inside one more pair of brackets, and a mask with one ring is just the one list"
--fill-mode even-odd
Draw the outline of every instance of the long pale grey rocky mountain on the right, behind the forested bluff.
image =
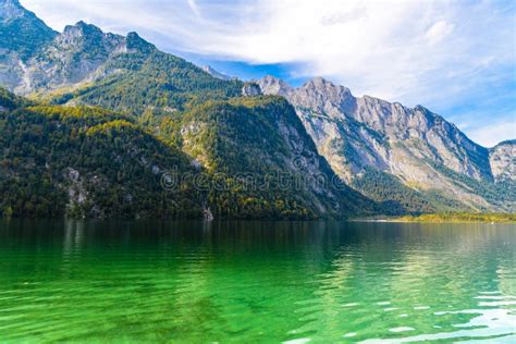
[[258, 84], [266, 95], [285, 97], [332, 169], [373, 199], [410, 194], [420, 210], [515, 209], [514, 195], [494, 183], [493, 152], [421, 106], [354, 97], [321, 77], [298, 88], [272, 76]]

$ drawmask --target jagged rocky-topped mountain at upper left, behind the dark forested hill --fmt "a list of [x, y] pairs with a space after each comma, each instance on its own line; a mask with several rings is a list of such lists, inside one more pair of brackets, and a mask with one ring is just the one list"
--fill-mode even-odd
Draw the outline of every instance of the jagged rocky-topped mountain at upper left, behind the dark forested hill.
[[[20, 22], [32, 32], [45, 25], [26, 16]], [[25, 32], [4, 29], [10, 37], [32, 40]], [[236, 79], [213, 77], [181, 58], [159, 51], [136, 33], [125, 37], [103, 33], [82, 21], [49, 36], [26, 60], [16, 46], [1, 48], [5, 51], [0, 60], [1, 85], [57, 105], [101, 106], [133, 115], [146, 110], [165, 114], [188, 103], [238, 96], [242, 88]]]

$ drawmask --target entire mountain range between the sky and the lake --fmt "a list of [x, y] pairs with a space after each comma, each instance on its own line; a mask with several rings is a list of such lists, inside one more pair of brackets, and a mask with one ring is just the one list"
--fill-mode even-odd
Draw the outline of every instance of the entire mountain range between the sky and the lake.
[[[56, 33], [17, 0], [0, 0], [0, 213], [516, 209], [516, 142], [487, 149], [423, 107], [357, 98], [323, 78], [244, 83], [136, 33], [84, 22]], [[181, 180], [173, 192], [171, 180]]]

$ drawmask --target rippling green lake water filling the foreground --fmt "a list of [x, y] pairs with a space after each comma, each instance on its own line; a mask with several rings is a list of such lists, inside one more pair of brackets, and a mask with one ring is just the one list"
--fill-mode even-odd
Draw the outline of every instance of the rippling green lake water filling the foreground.
[[516, 226], [0, 222], [0, 342], [516, 342]]

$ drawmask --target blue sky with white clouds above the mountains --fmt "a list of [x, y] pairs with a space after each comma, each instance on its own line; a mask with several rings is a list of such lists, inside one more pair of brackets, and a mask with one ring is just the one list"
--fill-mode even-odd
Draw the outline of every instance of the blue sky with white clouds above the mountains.
[[513, 0], [21, 0], [62, 30], [136, 30], [163, 51], [243, 79], [323, 76], [422, 105], [491, 147], [516, 138]]

